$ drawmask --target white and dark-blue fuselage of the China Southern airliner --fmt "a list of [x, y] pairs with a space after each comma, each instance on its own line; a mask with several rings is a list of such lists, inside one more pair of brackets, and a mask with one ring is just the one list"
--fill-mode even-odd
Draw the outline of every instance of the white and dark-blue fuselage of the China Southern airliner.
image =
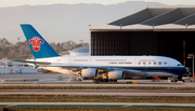
[[[147, 73], [146, 77], [170, 77], [183, 74], [186, 70], [176, 59], [162, 56], [57, 56], [50, 58], [38, 58], [36, 61], [51, 63], [51, 66], [41, 67], [47, 70], [65, 74], [76, 74], [70, 70], [63, 69], [65, 66], [105, 67], [126, 70], [139, 70]], [[184, 71], [185, 70], [185, 71]]]

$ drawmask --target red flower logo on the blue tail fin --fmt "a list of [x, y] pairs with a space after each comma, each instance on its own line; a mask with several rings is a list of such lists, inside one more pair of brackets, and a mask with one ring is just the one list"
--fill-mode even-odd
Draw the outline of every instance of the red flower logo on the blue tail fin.
[[32, 39], [29, 40], [29, 44], [31, 43], [34, 51], [38, 52], [40, 50], [40, 44], [43, 44], [44, 41], [39, 39], [39, 37], [34, 37]]

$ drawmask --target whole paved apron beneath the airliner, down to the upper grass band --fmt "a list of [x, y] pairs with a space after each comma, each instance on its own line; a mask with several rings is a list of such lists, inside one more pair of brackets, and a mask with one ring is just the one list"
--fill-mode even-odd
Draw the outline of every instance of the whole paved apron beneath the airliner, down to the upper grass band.
[[[153, 82], [153, 80], [118, 80], [118, 83], [93, 83], [92, 80], [82, 82], [70, 81], [23, 81], [25, 79], [57, 79], [75, 78], [67, 74], [0, 74], [0, 80], [21, 80], [18, 82], [0, 82], [0, 86], [165, 86], [165, 87], [195, 87], [195, 82], [192, 83], [168, 83]], [[127, 82], [138, 82], [138, 84], [127, 84]]]

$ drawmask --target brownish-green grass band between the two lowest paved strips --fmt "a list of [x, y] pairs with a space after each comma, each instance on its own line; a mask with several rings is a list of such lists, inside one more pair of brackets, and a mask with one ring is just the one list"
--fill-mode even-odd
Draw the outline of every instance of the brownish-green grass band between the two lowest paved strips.
[[181, 102], [195, 103], [195, 96], [104, 96], [104, 95], [0, 95], [0, 102]]

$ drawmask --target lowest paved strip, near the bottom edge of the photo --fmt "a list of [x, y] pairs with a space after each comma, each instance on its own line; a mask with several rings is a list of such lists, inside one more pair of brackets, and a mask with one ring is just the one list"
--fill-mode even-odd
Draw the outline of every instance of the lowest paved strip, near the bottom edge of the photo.
[[0, 107], [139, 107], [139, 108], [193, 108], [195, 103], [154, 102], [0, 102]]

